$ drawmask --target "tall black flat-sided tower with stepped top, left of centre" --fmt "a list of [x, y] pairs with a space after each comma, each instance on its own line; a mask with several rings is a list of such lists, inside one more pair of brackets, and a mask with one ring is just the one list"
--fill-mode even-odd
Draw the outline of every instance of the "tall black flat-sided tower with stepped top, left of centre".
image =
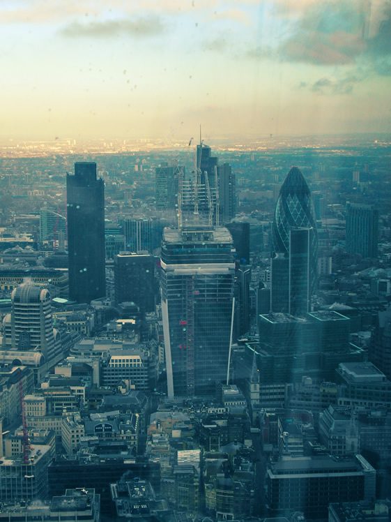
[[106, 295], [105, 186], [96, 163], [75, 163], [67, 174], [69, 297], [78, 303]]

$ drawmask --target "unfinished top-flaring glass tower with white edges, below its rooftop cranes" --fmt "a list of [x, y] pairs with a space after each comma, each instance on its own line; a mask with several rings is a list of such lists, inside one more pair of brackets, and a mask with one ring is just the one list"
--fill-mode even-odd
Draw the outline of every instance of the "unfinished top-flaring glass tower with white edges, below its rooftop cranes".
[[164, 229], [161, 292], [168, 395], [215, 394], [227, 379], [234, 249], [227, 228]]

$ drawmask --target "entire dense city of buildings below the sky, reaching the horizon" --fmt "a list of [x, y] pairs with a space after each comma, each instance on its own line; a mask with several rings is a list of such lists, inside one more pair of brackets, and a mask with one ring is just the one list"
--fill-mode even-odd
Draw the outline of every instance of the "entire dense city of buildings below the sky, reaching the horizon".
[[210, 142], [0, 144], [0, 522], [390, 520], [390, 138]]

